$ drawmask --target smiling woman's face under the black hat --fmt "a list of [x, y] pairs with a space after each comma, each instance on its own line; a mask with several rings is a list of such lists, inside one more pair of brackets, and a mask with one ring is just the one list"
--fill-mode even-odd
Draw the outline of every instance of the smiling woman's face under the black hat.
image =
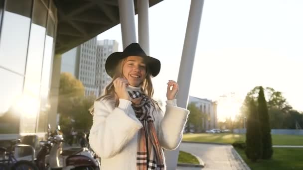
[[139, 86], [146, 76], [146, 64], [142, 57], [129, 56], [123, 65], [123, 76], [129, 82], [129, 85]]

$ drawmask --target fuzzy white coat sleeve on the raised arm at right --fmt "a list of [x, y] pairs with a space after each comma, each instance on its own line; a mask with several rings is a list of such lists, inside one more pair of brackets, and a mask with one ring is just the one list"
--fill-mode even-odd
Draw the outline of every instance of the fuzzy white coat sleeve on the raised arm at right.
[[162, 148], [176, 149], [183, 136], [189, 110], [177, 107], [176, 99], [166, 101], [166, 111], [160, 111], [158, 122], [158, 140]]

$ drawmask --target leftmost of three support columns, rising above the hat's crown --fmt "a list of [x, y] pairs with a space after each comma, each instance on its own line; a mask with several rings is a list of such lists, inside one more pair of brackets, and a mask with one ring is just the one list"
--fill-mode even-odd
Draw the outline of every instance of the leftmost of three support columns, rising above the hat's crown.
[[118, 0], [123, 49], [137, 42], [134, 0]]

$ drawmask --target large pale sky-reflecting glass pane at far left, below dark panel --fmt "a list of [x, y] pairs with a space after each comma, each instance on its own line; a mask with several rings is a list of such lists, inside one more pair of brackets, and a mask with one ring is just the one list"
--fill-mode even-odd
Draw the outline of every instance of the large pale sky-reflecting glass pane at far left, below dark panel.
[[24, 75], [29, 27], [30, 18], [4, 11], [0, 36], [0, 66]]

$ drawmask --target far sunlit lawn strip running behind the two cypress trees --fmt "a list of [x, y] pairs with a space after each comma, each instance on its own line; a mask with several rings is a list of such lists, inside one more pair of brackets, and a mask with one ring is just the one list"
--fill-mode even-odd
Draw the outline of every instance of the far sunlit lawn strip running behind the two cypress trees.
[[[182, 141], [232, 144], [235, 141], [245, 141], [245, 138], [245, 134], [198, 133], [184, 134]], [[272, 139], [273, 145], [303, 145], [303, 135], [272, 135]]]

